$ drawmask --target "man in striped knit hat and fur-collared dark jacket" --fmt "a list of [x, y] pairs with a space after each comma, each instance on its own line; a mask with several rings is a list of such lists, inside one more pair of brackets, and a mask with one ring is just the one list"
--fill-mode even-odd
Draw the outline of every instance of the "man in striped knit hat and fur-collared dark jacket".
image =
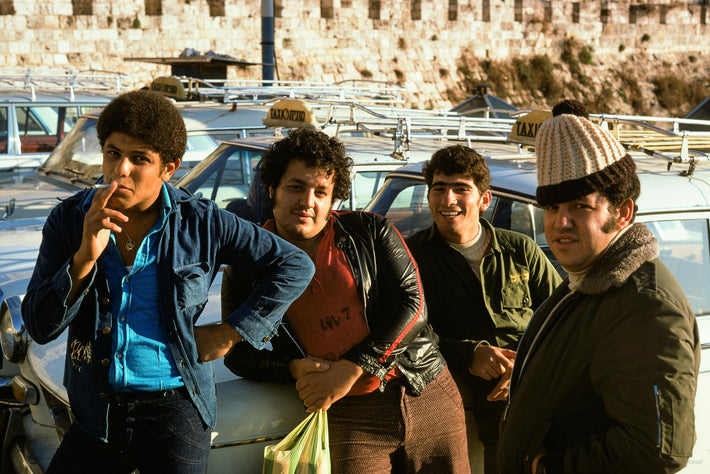
[[545, 236], [569, 276], [518, 346], [501, 472], [675, 472], [694, 443], [695, 316], [658, 245], [633, 223], [636, 166], [583, 117], [536, 138]]

